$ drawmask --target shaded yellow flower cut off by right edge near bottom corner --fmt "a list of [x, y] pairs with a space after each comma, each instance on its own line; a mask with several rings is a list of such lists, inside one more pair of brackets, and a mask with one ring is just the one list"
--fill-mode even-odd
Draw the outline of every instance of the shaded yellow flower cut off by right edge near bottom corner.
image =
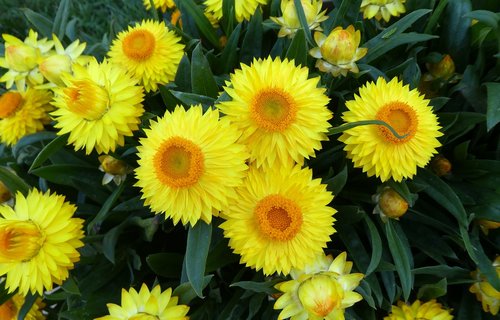
[[[500, 278], [500, 256], [493, 261], [493, 267]], [[500, 309], [500, 291], [497, 291], [479, 270], [472, 272], [472, 277], [476, 282], [469, 288], [469, 291], [476, 294], [477, 300], [481, 301], [484, 312], [497, 315]]]

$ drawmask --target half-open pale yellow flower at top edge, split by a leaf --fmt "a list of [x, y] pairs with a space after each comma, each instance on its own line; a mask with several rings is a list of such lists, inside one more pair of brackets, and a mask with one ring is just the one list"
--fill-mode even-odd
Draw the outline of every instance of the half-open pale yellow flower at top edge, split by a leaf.
[[[321, 31], [320, 23], [328, 19], [325, 16], [326, 10], [321, 12], [323, 0], [301, 0], [302, 8], [306, 16], [307, 25], [310, 30]], [[299, 17], [297, 16], [297, 8], [293, 0], [281, 1], [281, 17], [271, 17], [271, 20], [281, 26], [278, 37], [292, 38], [293, 35], [301, 28]]]

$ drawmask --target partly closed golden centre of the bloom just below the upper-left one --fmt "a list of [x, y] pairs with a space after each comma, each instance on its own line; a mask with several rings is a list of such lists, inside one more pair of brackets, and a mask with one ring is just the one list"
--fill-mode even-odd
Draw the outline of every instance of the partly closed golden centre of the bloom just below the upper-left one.
[[90, 80], [73, 81], [63, 92], [68, 109], [85, 120], [102, 118], [109, 106], [108, 92]]

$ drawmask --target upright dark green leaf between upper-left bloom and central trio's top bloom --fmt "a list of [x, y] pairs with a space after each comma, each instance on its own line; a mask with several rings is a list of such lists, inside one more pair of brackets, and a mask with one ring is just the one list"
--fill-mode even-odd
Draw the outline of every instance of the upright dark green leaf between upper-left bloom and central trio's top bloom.
[[219, 88], [215, 82], [207, 58], [203, 55], [201, 43], [196, 45], [191, 57], [191, 85], [193, 93], [217, 98]]

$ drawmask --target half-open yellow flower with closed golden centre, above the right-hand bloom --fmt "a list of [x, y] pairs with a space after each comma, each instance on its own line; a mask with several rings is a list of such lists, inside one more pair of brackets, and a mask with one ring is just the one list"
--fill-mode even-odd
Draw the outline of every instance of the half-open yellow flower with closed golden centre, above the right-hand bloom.
[[350, 25], [347, 29], [337, 27], [328, 37], [321, 32], [314, 33], [314, 40], [318, 47], [309, 53], [316, 59], [316, 67], [322, 72], [329, 72], [334, 77], [346, 76], [347, 72], [358, 73], [356, 61], [363, 58], [367, 48], [358, 48], [361, 40], [359, 30]]

